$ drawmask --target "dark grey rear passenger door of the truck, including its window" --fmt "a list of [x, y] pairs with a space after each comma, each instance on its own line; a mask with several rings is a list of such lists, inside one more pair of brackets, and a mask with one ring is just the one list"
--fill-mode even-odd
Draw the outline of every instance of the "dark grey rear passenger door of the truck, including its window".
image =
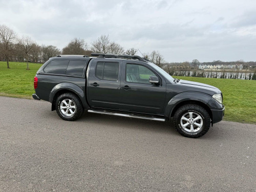
[[120, 61], [95, 59], [89, 69], [88, 101], [93, 108], [119, 109]]

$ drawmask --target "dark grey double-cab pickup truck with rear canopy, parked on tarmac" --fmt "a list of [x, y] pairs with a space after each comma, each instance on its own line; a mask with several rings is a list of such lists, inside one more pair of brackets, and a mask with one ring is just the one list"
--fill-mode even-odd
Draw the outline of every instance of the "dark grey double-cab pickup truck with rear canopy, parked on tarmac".
[[52, 103], [60, 118], [84, 112], [166, 121], [185, 137], [203, 136], [223, 119], [222, 92], [173, 78], [146, 58], [92, 53], [50, 58], [34, 78], [36, 100]]

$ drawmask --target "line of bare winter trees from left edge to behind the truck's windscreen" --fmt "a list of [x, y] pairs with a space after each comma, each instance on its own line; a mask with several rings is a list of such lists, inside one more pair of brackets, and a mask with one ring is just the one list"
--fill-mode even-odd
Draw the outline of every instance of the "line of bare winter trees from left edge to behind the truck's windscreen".
[[[66, 47], [60, 50], [53, 45], [38, 45], [31, 37], [18, 36], [8, 26], [0, 25], [0, 60], [7, 61], [7, 68], [10, 68], [9, 61], [27, 61], [27, 69], [29, 69], [30, 61], [42, 63], [50, 57], [60, 54], [91, 56], [93, 52], [135, 55], [138, 53], [138, 49], [130, 48], [124, 50], [120, 44], [111, 41], [109, 35], [101, 35], [91, 44], [88, 44], [84, 39], [74, 38]], [[155, 50], [151, 53], [143, 53], [142, 55], [160, 67], [164, 62], [163, 56]]]

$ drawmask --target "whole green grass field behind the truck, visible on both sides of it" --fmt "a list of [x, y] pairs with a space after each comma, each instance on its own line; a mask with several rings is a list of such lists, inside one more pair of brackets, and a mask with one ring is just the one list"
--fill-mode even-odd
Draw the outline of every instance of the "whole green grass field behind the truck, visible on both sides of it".
[[[30, 70], [26, 70], [26, 63], [10, 62], [11, 69], [7, 69], [6, 62], [0, 61], [0, 96], [32, 98], [31, 95], [35, 92], [33, 80], [40, 66], [37, 63], [30, 63]], [[224, 120], [256, 124], [256, 80], [176, 78], [219, 88], [226, 106]]]

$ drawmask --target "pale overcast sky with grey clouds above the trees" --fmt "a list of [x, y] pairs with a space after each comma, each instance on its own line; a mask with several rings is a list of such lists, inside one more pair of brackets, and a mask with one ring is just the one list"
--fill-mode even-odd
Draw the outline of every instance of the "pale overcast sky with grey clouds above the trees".
[[108, 35], [124, 49], [166, 61], [256, 61], [255, 0], [0, 0], [0, 24], [39, 45], [90, 44]]

